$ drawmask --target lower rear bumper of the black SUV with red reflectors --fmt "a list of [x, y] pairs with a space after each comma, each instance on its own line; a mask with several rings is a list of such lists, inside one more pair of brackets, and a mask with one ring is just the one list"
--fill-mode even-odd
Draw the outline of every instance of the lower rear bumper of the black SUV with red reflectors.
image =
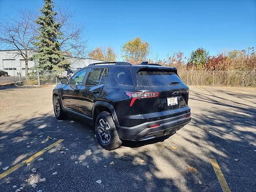
[[[134, 127], [116, 126], [116, 129], [120, 139], [141, 141], [174, 134], [177, 130], [188, 124], [190, 120], [190, 112], [188, 112], [180, 116], [154, 122], [146, 122]], [[160, 124], [160, 126], [148, 128], [148, 126], [154, 126], [156, 124]]]

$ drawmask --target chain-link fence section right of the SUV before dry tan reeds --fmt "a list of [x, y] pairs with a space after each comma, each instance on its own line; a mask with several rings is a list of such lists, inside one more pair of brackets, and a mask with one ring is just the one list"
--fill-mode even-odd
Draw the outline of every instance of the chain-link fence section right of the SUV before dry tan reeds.
[[188, 85], [256, 87], [256, 71], [178, 71]]

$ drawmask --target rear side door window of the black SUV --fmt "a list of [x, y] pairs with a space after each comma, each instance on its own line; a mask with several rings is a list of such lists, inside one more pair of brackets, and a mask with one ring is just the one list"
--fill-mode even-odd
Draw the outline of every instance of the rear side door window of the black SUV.
[[[102, 84], [106, 80], [106, 68], [91, 68], [87, 76], [85, 85], [98, 85]], [[104, 75], [104, 76], [103, 76]]]

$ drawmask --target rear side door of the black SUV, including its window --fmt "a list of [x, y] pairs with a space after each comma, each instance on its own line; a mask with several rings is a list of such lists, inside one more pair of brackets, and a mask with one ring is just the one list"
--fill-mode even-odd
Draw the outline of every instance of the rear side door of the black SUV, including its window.
[[95, 100], [100, 97], [106, 82], [107, 68], [90, 68], [84, 86], [79, 86], [78, 106], [80, 112], [92, 117]]

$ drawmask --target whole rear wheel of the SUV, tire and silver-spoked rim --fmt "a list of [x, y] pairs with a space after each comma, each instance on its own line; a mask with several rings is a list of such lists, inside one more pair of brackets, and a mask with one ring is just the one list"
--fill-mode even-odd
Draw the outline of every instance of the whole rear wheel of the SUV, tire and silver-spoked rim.
[[121, 146], [113, 118], [109, 112], [101, 112], [95, 121], [95, 132], [100, 146], [106, 150], [114, 150]]

